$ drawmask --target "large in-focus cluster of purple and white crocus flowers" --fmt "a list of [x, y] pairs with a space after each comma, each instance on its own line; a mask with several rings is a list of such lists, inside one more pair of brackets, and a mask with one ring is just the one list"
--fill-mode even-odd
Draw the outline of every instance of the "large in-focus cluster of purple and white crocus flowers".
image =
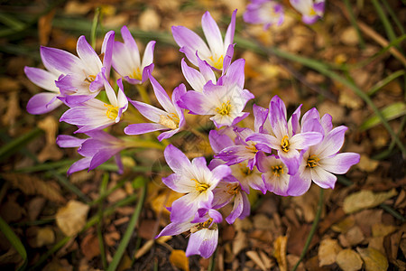
[[[84, 157], [72, 164], [68, 173], [95, 169], [113, 156], [119, 169], [123, 169], [119, 153], [134, 145], [102, 129], [123, 119], [128, 101], [151, 122], [126, 126], [126, 135], [162, 131], [158, 135], [161, 141], [186, 128], [185, 112], [211, 116], [217, 129], [208, 135], [214, 152], [209, 164], [204, 157], [189, 161], [174, 145], [164, 150], [166, 163], [174, 173], [162, 182], [184, 195], [172, 203], [171, 224], [157, 238], [189, 230], [187, 256], [213, 254], [217, 248], [217, 225], [223, 220], [219, 209], [232, 203], [226, 222], [244, 219], [250, 213], [250, 190], [298, 196], [309, 190], [311, 181], [322, 188], [334, 188], [334, 173], [346, 173], [359, 161], [358, 154], [338, 153], [344, 144], [345, 126], [333, 128], [331, 117], [320, 117], [316, 108], [300, 120], [301, 106], [288, 119], [286, 107], [277, 96], [269, 108], [254, 105], [254, 130], [239, 126], [249, 114], [244, 112], [245, 105], [254, 95], [244, 89], [245, 60], [232, 61], [235, 14], [236, 10], [224, 40], [211, 15], [203, 15], [202, 28], [208, 44], [186, 27], [172, 27], [180, 51], [198, 69], [189, 67], [185, 59], [181, 61], [191, 89], [180, 84], [171, 98], [152, 77], [155, 42], [148, 43], [141, 61], [134, 38], [125, 26], [121, 31], [124, 43], [115, 42], [114, 32], [107, 33], [101, 55], [82, 36], [78, 39], [78, 57], [42, 47], [46, 70], [25, 68], [32, 82], [51, 91], [32, 97], [27, 110], [43, 114], [63, 103], [69, 109], [60, 121], [78, 126], [75, 133], [88, 135], [86, 139], [58, 136], [60, 147], [78, 147], [78, 154]], [[122, 77], [116, 81], [117, 91], [110, 85], [112, 67]], [[162, 108], [127, 98], [122, 79], [130, 84], [149, 79]], [[106, 98], [99, 98], [101, 92]]]

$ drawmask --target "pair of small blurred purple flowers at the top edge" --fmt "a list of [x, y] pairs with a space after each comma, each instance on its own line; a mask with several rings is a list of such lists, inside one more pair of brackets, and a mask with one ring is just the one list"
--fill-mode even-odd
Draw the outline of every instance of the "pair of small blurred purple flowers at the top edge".
[[[290, 0], [291, 6], [301, 14], [303, 23], [316, 23], [324, 14], [325, 0]], [[275, 0], [251, 0], [244, 14], [246, 23], [263, 24], [268, 29], [272, 24], [283, 23], [283, 6]]]

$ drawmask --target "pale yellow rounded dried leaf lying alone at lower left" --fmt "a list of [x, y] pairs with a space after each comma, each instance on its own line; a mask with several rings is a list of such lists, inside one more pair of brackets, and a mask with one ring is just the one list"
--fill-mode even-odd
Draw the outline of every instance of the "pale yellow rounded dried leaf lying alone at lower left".
[[80, 201], [69, 201], [56, 213], [56, 222], [66, 236], [75, 236], [86, 225], [90, 207]]

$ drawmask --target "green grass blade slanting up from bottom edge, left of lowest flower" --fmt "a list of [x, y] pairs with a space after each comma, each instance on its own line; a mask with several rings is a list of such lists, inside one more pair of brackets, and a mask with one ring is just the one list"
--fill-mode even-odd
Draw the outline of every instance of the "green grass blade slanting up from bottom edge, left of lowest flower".
[[125, 230], [125, 235], [121, 239], [121, 242], [118, 245], [117, 251], [115, 252], [115, 256], [113, 257], [113, 260], [111, 261], [110, 266], [108, 266], [107, 271], [114, 271], [117, 268], [118, 264], [120, 263], [121, 258], [123, 257], [123, 255], [125, 253], [125, 248], [127, 248], [128, 243], [130, 242], [130, 238], [133, 235], [133, 232], [135, 229], [135, 224], [137, 223], [141, 210], [143, 208], [143, 201], [145, 199], [145, 194], [146, 194], [146, 186], [147, 185], [145, 182], [143, 185], [141, 198], [137, 203], [133, 216], [131, 217], [130, 221], [128, 222], [128, 227]]

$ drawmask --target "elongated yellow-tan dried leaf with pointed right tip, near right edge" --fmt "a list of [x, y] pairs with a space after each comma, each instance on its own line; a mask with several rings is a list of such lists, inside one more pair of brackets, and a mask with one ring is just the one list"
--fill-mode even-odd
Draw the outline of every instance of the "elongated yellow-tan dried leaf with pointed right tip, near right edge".
[[397, 194], [395, 189], [389, 192], [374, 193], [368, 190], [355, 192], [344, 200], [343, 210], [352, 213], [358, 210], [374, 208]]

